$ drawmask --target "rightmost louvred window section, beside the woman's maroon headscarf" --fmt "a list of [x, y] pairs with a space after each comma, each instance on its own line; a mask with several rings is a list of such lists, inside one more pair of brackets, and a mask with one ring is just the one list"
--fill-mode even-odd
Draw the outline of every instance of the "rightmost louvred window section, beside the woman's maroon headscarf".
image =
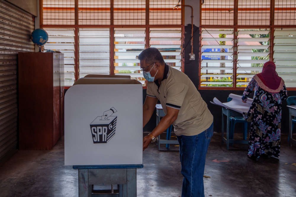
[[296, 87], [296, 29], [274, 30], [274, 62], [276, 72], [286, 87]]

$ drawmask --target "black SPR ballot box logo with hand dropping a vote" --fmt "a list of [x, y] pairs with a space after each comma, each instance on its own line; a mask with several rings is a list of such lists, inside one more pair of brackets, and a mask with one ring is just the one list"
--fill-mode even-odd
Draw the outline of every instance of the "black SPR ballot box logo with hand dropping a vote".
[[91, 135], [94, 143], [107, 143], [114, 135], [117, 116], [111, 116], [117, 112], [114, 107], [105, 111], [103, 116], [98, 116], [91, 122]]

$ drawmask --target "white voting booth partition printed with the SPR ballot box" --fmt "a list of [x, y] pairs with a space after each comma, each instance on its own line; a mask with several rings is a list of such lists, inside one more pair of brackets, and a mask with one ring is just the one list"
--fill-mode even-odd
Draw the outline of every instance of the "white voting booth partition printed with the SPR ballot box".
[[142, 84], [76, 82], [65, 94], [65, 165], [143, 164]]

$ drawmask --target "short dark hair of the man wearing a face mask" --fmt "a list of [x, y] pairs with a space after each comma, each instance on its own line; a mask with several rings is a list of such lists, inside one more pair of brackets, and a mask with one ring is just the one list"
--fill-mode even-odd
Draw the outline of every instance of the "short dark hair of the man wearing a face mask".
[[139, 60], [144, 60], [147, 64], [152, 64], [154, 62], [158, 63], [165, 63], [163, 60], [163, 56], [158, 51], [158, 49], [150, 47], [148, 49], [145, 49], [139, 54], [138, 57]]

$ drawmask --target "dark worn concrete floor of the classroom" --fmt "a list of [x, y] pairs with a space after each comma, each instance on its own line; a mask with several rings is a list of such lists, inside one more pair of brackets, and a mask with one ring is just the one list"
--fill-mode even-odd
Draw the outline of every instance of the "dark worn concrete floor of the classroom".
[[[247, 145], [230, 148], [221, 144], [221, 133], [214, 133], [206, 158], [205, 175], [210, 178], [204, 178], [205, 196], [296, 196], [296, 145], [287, 145], [287, 135], [281, 135], [280, 160], [255, 162], [247, 158]], [[137, 196], [181, 195], [178, 147], [158, 151], [151, 144], [143, 152], [143, 164], [137, 170]], [[17, 151], [5, 162], [0, 196], [78, 196], [78, 170], [64, 166], [63, 138], [51, 151]]]

